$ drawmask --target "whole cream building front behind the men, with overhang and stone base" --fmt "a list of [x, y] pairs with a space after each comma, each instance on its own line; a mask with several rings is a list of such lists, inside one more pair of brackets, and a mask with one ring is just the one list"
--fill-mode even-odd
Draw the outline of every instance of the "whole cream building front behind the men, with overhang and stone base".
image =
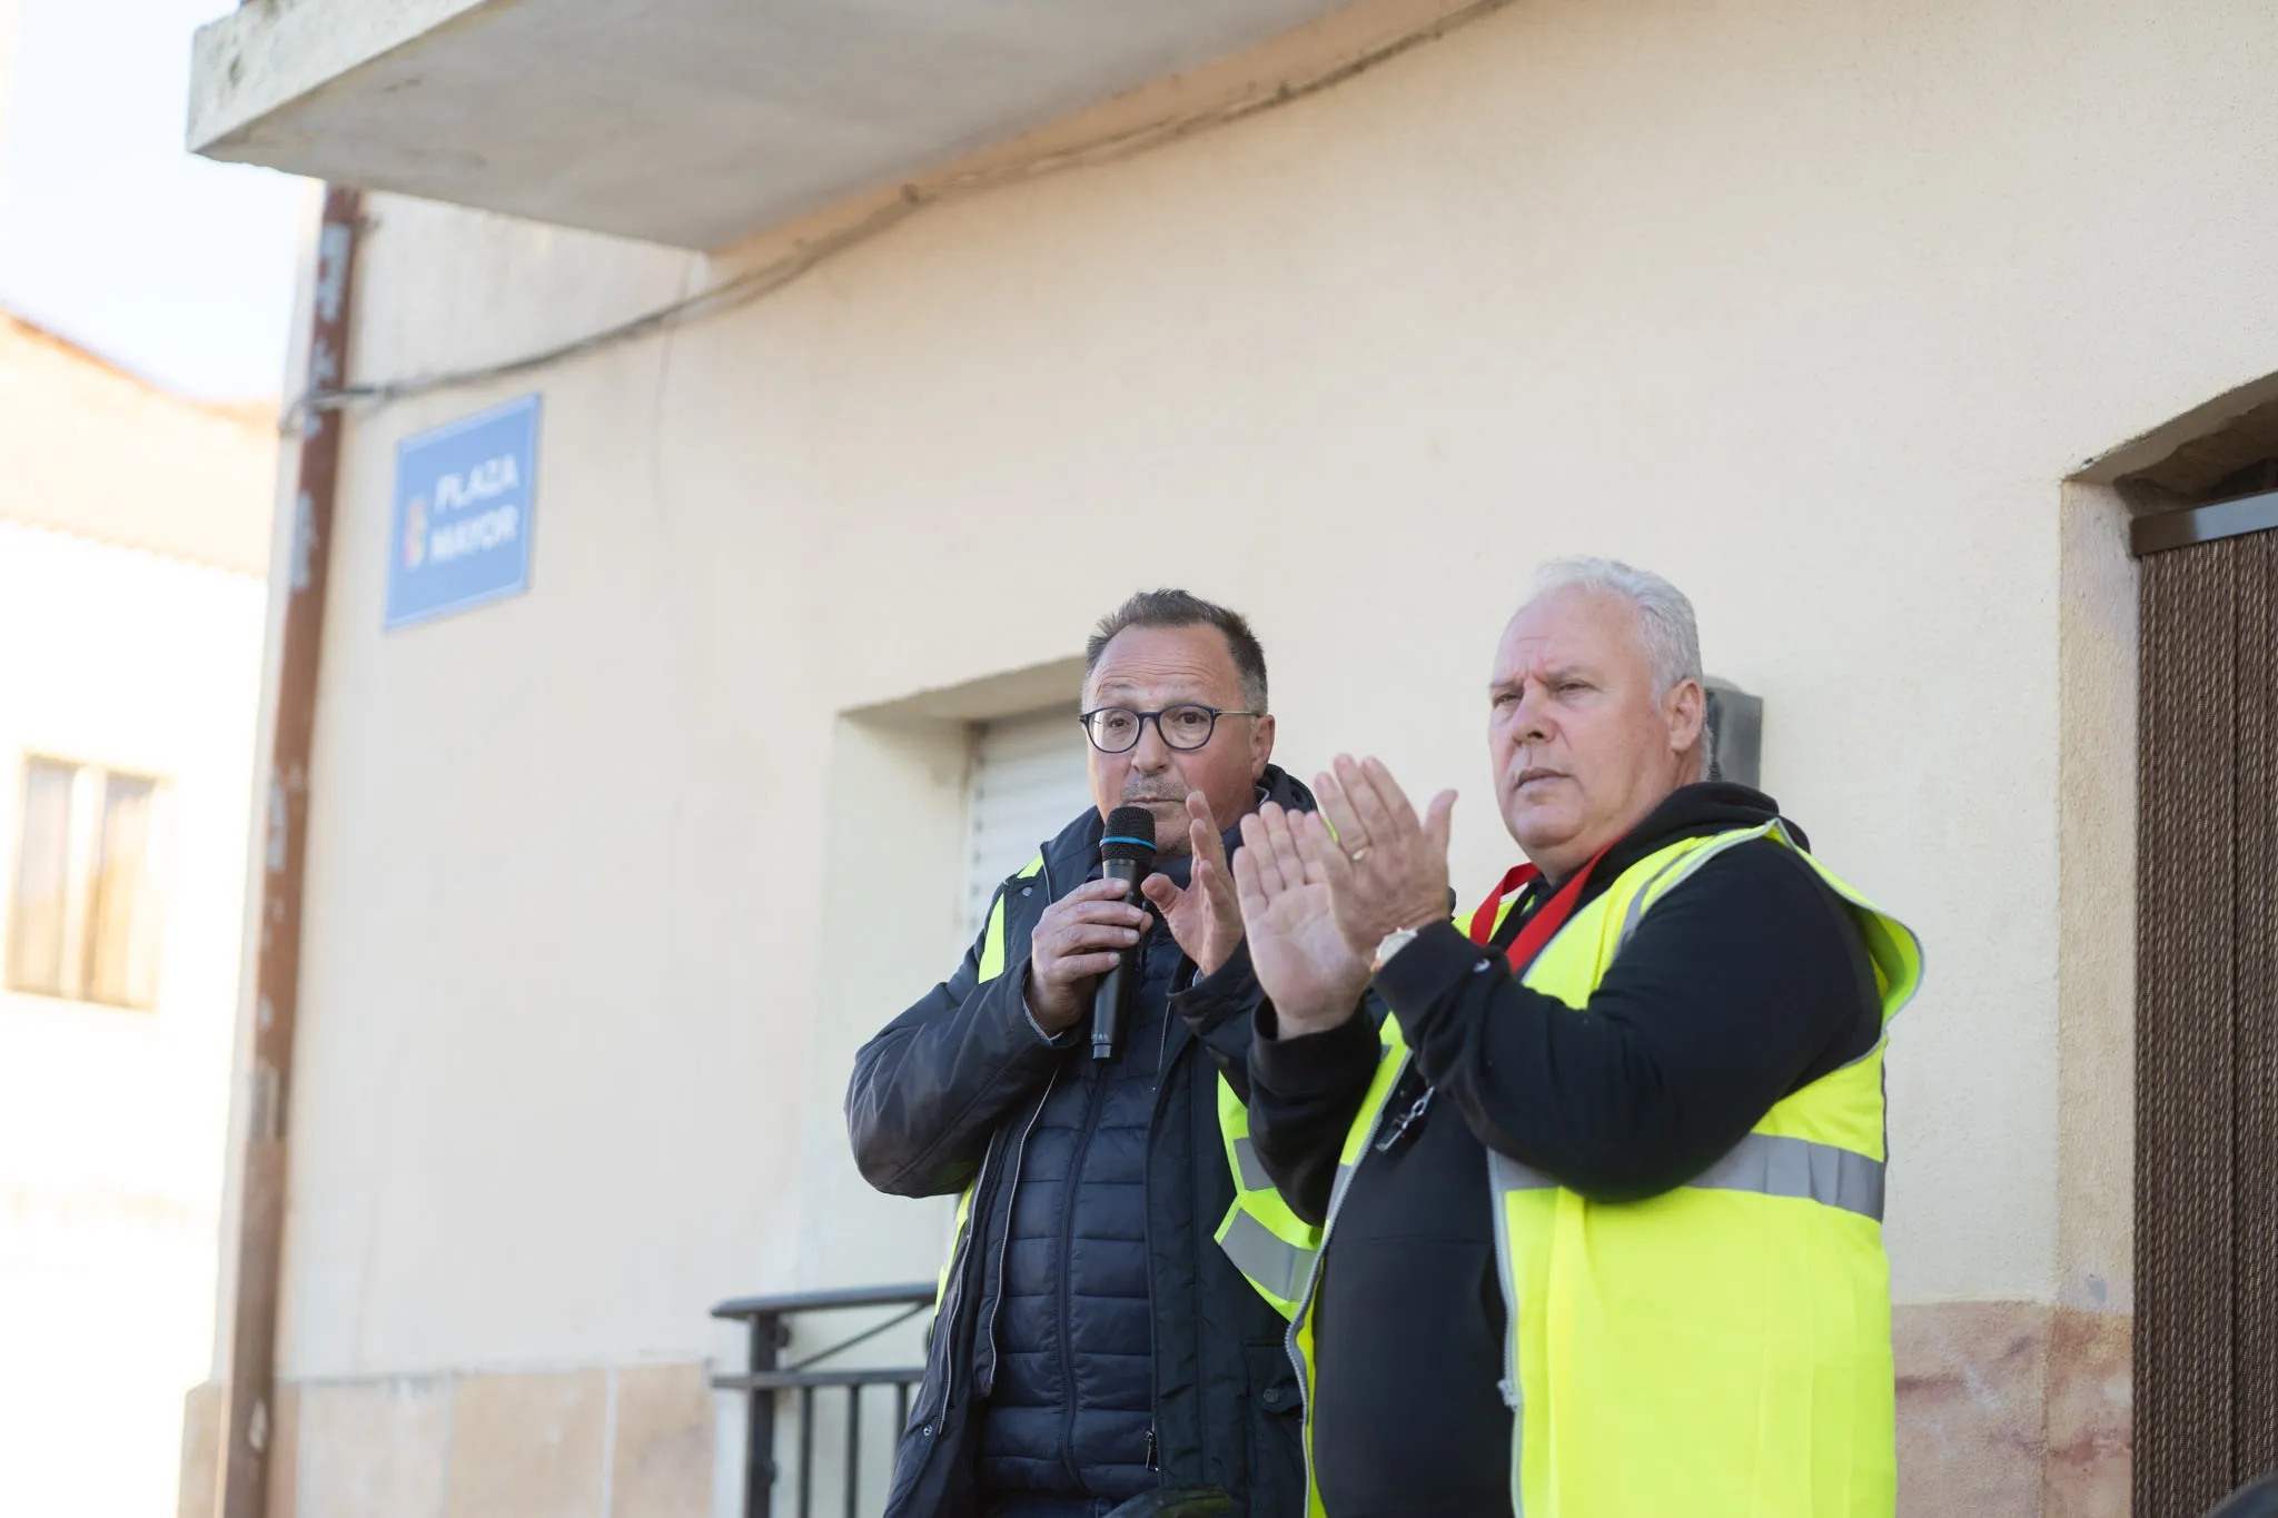
[[[376, 191], [271, 1511], [736, 1511], [706, 1309], [939, 1265], [841, 1095], [1080, 806], [1091, 621], [1244, 610], [1280, 758], [1456, 785], [1472, 894], [1485, 665], [1556, 553], [1693, 596], [1763, 787], [1927, 944], [1902, 1511], [2128, 1511], [2114, 480], [2278, 376], [2278, 16], [349, 9], [214, 23], [194, 102]], [[528, 589], [387, 630], [399, 444], [526, 394]]]

